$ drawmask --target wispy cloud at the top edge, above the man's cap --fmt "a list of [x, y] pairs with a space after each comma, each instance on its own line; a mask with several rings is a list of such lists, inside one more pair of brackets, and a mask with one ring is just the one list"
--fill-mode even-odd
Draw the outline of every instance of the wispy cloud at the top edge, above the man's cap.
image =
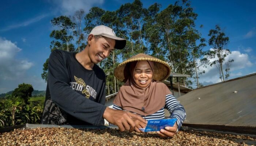
[[53, 2], [59, 7], [61, 14], [72, 16], [79, 9], [84, 9], [87, 13], [94, 5], [103, 4], [104, 0], [55, 0]]

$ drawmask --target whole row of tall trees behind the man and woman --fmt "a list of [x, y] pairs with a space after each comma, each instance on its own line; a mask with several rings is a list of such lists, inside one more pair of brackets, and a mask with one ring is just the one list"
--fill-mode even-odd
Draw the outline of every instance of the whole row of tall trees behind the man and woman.
[[[105, 11], [93, 7], [88, 14], [83, 9], [75, 12], [74, 16], [59, 16], [51, 20], [57, 28], [50, 33], [52, 42], [50, 50], [66, 50], [80, 52], [86, 46], [87, 35], [98, 25], [113, 28], [118, 37], [126, 38], [127, 45], [123, 50], [114, 50], [99, 66], [106, 73], [106, 94], [118, 91], [122, 85], [114, 77], [114, 68], [125, 59], [138, 53], [145, 53], [169, 63], [172, 72], [189, 74], [193, 78], [182, 78], [184, 86], [191, 87], [196, 81], [201, 87], [199, 75], [204, 70], [200, 66], [214, 65], [219, 69], [219, 78], [227, 80], [231, 62], [224, 64], [225, 57], [231, 52], [227, 49], [229, 38], [216, 25], [209, 31], [209, 45], [213, 50], [203, 51], [206, 40], [196, 30], [197, 14], [188, 0], [176, 1], [160, 11], [161, 5], [155, 3], [143, 8], [140, 0], [125, 3], [116, 11]], [[200, 26], [200, 28], [203, 25]], [[214, 62], [209, 59], [218, 57]], [[225, 66], [226, 65], [226, 66]], [[47, 81], [48, 59], [43, 65], [42, 78]], [[174, 79], [174, 82], [176, 80]]]

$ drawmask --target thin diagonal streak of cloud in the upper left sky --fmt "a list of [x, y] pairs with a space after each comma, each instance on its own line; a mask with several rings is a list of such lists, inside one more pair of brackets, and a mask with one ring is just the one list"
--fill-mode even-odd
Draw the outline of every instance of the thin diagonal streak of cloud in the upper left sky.
[[28, 26], [31, 23], [38, 22], [39, 20], [45, 18], [46, 16], [48, 16], [48, 15], [47, 14], [43, 14], [43, 15], [37, 16], [35, 18], [29, 19], [29, 20], [27, 20], [25, 22], [20, 22], [18, 24], [13, 24], [13, 25], [7, 26], [6, 28], [1, 29], [0, 31], [8, 31], [8, 30], [12, 30], [12, 29], [15, 29], [15, 28]]

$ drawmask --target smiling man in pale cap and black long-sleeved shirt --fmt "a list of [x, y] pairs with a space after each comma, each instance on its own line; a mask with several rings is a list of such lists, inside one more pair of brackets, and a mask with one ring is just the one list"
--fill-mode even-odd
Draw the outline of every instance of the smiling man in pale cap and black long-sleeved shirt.
[[55, 50], [49, 57], [48, 84], [42, 124], [102, 125], [103, 118], [120, 131], [135, 128], [133, 120], [146, 121], [138, 115], [116, 111], [105, 104], [105, 73], [96, 64], [126, 40], [116, 37], [106, 26], [96, 26], [88, 44], [80, 53]]

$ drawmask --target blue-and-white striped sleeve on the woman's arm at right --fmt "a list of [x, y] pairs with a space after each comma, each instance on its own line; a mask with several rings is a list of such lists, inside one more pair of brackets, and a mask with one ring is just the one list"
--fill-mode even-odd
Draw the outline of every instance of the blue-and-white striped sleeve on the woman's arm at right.
[[166, 95], [165, 108], [170, 112], [170, 118], [177, 118], [178, 130], [186, 118], [186, 112], [180, 102], [172, 95]]

